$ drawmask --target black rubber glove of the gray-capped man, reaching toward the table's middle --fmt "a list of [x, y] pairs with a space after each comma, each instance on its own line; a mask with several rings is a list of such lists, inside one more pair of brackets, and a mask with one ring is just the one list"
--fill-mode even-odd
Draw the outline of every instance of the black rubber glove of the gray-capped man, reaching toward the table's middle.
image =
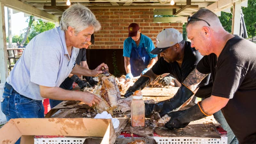
[[140, 78], [128, 88], [125, 92], [124, 97], [127, 98], [132, 95], [133, 92], [137, 90], [142, 90], [146, 85], [150, 83], [150, 78], [148, 76], [140, 76]]

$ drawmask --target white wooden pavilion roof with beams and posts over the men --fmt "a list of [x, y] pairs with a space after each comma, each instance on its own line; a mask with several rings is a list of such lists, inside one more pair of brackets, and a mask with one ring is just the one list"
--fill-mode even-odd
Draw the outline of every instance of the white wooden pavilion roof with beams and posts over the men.
[[[62, 13], [69, 6], [67, 0], [0, 0], [0, 77], [4, 84], [9, 75], [4, 6], [45, 20], [59, 23]], [[70, 0], [71, 4], [80, 3], [90, 9], [154, 9], [154, 15], [175, 15], [176, 17], [155, 17], [154, 23], [187, 22], [187, 17], [201, 8], [207, 8], [217, 15], [221, 11], [230, 12], [233, 7], [232, 34], [239, 35], [241, 7], [247, 7], [248, 0]]]

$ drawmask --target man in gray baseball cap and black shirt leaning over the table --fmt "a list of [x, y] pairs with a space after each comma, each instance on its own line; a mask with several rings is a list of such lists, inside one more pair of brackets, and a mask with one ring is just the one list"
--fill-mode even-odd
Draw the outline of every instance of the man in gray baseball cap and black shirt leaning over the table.
[[[159, 58], [148, 73], [143, 75], [144, 77], [140, 77], [135, 84], [126, 91], [125, 97], [130, 96], [132, 92], [136, 90], [143, 89], [150, 81], [154, 81], [156, 77], [164, 73], [170, 73], [172, 77], [175, 77], [180, 83], [183, 83], [189, 73], [196, 68], [199, 60], [203, 58], [195, 48], [191, 48], [191, 43], [184, 41], [182, 34], [173, 28], [168, 28], [160, 32], [156, 37], [156, 44], [157, 47], [151, 51], [151, 53], [160, 53], [161, 58]], [[204, 80], [197, 85], [197, 88], [198, 90], [195, 93], [197, 97], [210, 97], [212, 92], [212, 80], [210, 76], [204, 78]], [[182, 89], [183, 92], [186, 92], [186, 88], [183, 84]], [[158, 112], [160, 116], [164, 116], [166, 113], [180, 108], [183, 103], [189, 101], [188, 99], [193, 95], [188, 94], [183, 96], [182, 94], [183, 93], [179, 91], [172, 99], [157, 104], [145, 103], [146, 116], [153, 112]], [[214, 118], [228, 131], [228, 144], [235, 144], [236, 138], [234, 137], [234, 133], [228, 126], [221, 111], [216, 112]]]

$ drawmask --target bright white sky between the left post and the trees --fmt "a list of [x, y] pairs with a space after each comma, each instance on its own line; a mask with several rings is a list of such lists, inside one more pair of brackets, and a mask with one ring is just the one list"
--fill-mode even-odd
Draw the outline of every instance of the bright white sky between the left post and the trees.
[[[4, 7], [4, 14], [5, 14], [5, 31], [6, 36], [8, 36], [8, 17], [7, 17], [7, 7]], [[12, 13], [11, 19], [12, 19], [12, 36], [18, 35], [22, 33], [24, 28], [28, 27], [28, 22], [26, 20], [29, 17], [24, 17], [23, 12], [18, 13]]]

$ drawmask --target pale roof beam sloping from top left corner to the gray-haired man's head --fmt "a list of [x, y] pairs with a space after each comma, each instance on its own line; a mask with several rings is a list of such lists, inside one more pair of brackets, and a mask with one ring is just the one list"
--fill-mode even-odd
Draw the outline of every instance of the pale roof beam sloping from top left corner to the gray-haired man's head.
[[45, 20], [50, 20], [53, 22], [59, 22], [59, 17], [56, 17], [50, 13], [44, 12], [42, 10], [39, 10], [29, 4], [25, 4], [19, 0], [0, 0], [1, 3], [3, 3], [5, 6], [18, 10], [20, 12], [24, 12]]

